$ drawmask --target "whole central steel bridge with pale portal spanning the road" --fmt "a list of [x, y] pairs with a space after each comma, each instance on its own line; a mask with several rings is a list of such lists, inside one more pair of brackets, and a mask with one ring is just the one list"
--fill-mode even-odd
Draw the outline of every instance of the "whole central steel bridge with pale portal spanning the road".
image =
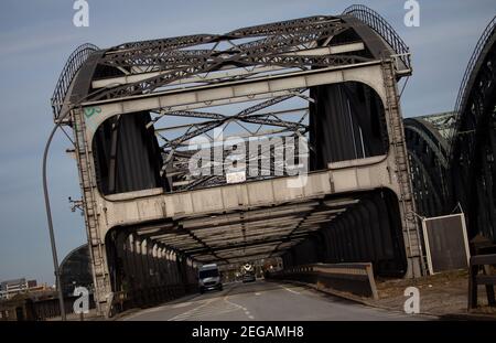
[[[74, 137], [99, 310], [121, 292], [130, 306], [157, 301], [204, 262], [371, 261], [378, 275], [421, 275], [397, 89], [411, 72], [407, 45], [362, 6], [78, 47], [52, 104]], [[240, 149], [255, 138], [269, 148]], [[294, 140], [306, 144], [288, 153]], [[192, 174], [205, 150], [207, 172]], [[227, 182], [229, 167], [246, 180]]]

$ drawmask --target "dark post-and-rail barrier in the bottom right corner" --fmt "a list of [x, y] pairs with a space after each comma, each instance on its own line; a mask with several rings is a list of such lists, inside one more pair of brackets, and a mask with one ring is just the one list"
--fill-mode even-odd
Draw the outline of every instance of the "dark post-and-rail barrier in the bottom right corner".
[[[494, 286], [496, 285], [496, 275], [490, 275], [490, 266], [496, 266], [496, 254], [475, 255], [471, 257], [471, 275], [468, 279], [468, 310], [477, 307], [478, 285], [486, 287], [487, 303], [496, 307]], [[479, 274], [479, 271], [483, 274]]]

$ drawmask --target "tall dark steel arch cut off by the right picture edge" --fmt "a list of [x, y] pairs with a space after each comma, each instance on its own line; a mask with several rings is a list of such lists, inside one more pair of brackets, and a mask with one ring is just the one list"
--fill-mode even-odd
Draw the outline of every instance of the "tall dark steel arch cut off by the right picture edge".
[[450, 169], [470, 236], [496, 244], [496, 17], [472, 54], [455, 105]]

